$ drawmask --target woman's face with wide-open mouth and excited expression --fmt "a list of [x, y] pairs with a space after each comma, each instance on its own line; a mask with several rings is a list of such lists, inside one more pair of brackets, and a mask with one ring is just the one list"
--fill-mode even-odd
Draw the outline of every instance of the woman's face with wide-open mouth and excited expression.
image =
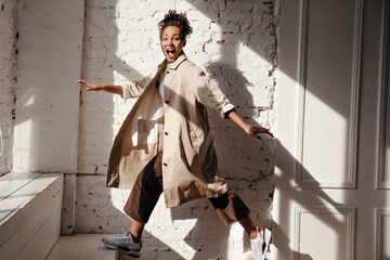
[[167, 26], [161, 34], [161, 50], [168, 63], [174, 62], [185, 46], [185, 40], [180, 37], [180, 29]]

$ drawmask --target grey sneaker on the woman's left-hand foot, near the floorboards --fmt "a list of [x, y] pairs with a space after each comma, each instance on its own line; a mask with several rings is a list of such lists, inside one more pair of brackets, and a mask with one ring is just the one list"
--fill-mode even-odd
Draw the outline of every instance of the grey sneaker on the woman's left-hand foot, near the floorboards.
[[133, 242], [130, 232], [126, 230], [122, 230], [122, 233], [116, 236], [103, 237], [102, 242], [108, 249], [119, 250], [133, 258], [141, 256], [142, 243]]

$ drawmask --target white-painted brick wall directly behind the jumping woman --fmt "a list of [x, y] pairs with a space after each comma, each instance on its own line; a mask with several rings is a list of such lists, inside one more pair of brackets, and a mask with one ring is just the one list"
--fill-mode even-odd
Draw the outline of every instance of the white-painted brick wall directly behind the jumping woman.
[[[276, 129], [278, 0], [87, 0], [82, 78], [125, 84], [148, 74], [164, 56], [157, 23], [169, 9], [187, 12], [194, 34], [184, 48], [190, 60], [216, 79], [251, 123]], [[105, 188], [109, 148], [133, 102], [81, 92], [76, 232], [129, 227], [121, 208], [128, 191]], [[229, 120], [210, 114], [222, 176], [271, 226], [274, 143], [256, 141]], [[207, 199], [174, 209], [160, 200], [145, 229], [144, 259], [242, 259], [249, 244], [239, 224], [225, 229]]]

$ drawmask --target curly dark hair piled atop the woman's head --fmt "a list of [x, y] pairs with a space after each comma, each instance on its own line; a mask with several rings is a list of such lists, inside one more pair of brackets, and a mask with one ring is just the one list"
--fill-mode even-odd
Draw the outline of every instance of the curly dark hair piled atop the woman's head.
[[158, 23], [159, 37], [168, 26], [176, 26], [180, 29], [180, 37], [185, 40], [192, 34], [192, 27], [186, 17], [186, 13], [177, 13], [174, 10], [169, 10], [164, 18]]

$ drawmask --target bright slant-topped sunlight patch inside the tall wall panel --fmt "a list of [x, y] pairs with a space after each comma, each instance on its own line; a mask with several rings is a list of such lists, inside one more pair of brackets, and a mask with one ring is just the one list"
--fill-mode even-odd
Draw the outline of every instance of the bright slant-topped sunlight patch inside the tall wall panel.
[[339, 180], [348, 168], [349, 121], [308, 91], [304, 107], [302, 165], [314, 179]]

